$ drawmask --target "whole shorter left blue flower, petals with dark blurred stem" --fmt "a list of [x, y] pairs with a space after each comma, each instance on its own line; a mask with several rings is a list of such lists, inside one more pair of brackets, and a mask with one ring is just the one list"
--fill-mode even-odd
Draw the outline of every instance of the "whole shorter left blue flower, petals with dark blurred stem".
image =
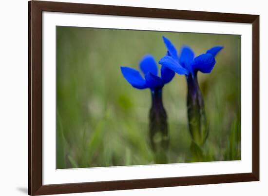
[[166, 66], [161, 67], [161, 77], [152, 55], [146, 55], [139, 63], [141, 73], [131, 67], [121, 67], [124, 78], [137, 89], [151, 89], [152, 106], [149, 113], [149, 137], [154, 152], [155, 163], [167, 163], [166, 151], [169, 146], [167, 113], [162, 101], [162, 88], [169, 83], [175, 72]]

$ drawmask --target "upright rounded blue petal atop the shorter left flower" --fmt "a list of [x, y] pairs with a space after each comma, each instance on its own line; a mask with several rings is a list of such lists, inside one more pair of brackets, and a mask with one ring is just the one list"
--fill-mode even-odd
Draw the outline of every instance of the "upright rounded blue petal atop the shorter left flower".
[[143, 59], [141, 59], [139, 66], [144, 75], [151, 72], [153, 75], [157, 76], [157, 64], [152, 55], [144, 56]]

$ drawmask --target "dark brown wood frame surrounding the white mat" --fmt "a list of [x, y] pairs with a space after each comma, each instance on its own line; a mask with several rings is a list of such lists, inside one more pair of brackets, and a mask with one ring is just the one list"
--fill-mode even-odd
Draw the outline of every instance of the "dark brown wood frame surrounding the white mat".
[[[252, 172], [72, 184], [42, 184], [42, 12], [117, 15], [252, 24]], [[49, 195], [259, 180], [259, 16], [51, 1], [28, 2], [28, 194]]]

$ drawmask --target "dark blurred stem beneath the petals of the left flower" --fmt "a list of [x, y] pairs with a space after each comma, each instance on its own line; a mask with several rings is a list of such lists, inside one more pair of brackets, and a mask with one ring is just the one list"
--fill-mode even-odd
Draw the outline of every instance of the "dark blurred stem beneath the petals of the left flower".
[[155, 153], [155, 163], [167, 163], [169, 133], [167, 113], [162, 102], [162, 89], [152, 90], [149, 130], [151, 146]]

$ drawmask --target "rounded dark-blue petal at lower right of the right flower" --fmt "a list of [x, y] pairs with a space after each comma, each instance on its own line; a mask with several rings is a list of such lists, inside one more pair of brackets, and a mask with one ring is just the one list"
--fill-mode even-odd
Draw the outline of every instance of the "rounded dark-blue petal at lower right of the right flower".
[[193, 69], [194, 71], [201, 71], [203, 73], [211, 73], [216, 61], [214, 57], [208, 54], [202, 54], [194, 58]]

